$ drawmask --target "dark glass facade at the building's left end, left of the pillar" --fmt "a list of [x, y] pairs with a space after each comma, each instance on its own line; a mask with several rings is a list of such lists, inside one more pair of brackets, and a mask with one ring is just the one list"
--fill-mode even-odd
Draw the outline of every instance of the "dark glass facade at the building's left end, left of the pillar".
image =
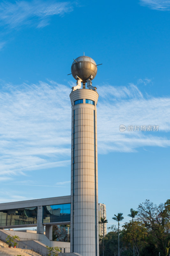
[[0, 211], [0, 226], [36, 224], [37, 211], [37, 206]]

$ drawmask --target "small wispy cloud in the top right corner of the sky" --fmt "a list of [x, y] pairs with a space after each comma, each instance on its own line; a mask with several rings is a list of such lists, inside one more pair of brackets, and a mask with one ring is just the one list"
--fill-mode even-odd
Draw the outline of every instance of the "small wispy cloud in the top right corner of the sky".
[[140, 4], [153, 10], [169, 11], [170, 0], [140, 0]]

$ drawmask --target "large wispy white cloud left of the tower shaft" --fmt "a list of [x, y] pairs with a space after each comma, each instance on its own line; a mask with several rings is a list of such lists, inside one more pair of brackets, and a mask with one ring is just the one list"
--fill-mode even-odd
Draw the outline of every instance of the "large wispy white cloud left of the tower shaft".
[[9, 91], [0, 92], [1, 175], [68, 166], [70, 88], [54, 82], [22, 86], [6, 84]]

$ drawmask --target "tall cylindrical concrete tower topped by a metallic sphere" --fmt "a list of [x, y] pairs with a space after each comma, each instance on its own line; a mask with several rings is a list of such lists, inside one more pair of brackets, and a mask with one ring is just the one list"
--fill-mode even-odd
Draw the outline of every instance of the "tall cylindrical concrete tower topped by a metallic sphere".
[[[80, 56], [71, 66], [77, 80], [72, 87], [71, 124], [71, 248], [83, 256], [99, 255], [97, 100], [92, 79], [97, 66], [88, 56]], [[87, 88], [85, 84], [87, 83]], [[81, 89], [81, 84], [83, 88]]]

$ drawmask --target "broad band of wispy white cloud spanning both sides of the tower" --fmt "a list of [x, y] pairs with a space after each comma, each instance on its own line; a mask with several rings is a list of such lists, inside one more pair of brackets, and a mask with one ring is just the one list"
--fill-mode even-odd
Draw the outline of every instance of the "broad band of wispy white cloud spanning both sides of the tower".
[[[54, 81], [2, 84], [0, 170], [2, 180], [29, 171], [70, 165], [70, 87]], [[143, 95], [135, 84], [98, 86], [98, 152], [169, 147], [170, 98]], [[159, 132], [120, 132], [120, 124], [159, 125]], [[61, 181], [64, 185], [70, 181]], [[26, 183], [26, 184], [29, 184]]]

